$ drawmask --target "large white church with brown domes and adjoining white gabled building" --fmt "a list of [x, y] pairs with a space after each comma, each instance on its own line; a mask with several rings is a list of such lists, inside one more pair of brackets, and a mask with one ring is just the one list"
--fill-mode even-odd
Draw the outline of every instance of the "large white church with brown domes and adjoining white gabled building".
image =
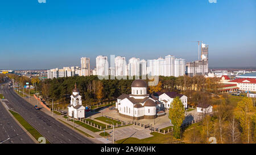
[[135, 79], [131, 83], [131, 94], [122, 94], [117, 98], [115, 108], [118, 114], [130, 119], [154, 119], [164, 113], [163, 109], [171, 108], [171, 102], [179, 97], [187, 108], [188, 98], [175, 92], [147, 94], [147, 83]]

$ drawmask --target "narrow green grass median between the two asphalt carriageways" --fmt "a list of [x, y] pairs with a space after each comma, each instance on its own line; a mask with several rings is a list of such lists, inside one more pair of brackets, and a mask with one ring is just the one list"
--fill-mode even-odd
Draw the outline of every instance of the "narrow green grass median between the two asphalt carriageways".
[[[14, 118], [16, 120], [18, 120], [18, 122], [20, 124], [22, 124], [22, 126], [33, 136], [35, 137], [36, 140], [38, 140], [39, 137], [44, 137], [43, 135], [41, 135], [35, 128], [33, 128], [29, 123], [27, 123], [26, 120], [24, 120], [22, 118], [22, 116], [20, 116], [18, 113], [11, 111], [11, 114], [14, 116]], [[46, 144], [49, 144], [49, 141], [46, 139]]]

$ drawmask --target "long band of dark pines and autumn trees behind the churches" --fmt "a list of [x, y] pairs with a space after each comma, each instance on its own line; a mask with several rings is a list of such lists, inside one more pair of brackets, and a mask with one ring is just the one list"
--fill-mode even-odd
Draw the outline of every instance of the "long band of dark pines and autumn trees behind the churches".
[[[134, 81], [134, 78], [100, 80], [97, 76], [63, 77], [41, 81], [38, 77], [28, 78], [16, 74], [8, 74], [8, 76], [19, 82], [20, 85], [30, 82], [31, 85], [37, 87], [44, 99], [52, 98], [54, 100], [64, 100], [64, 102], [69, 102], [76, 83], [83, 103], [86, 104], [101, 102], [102, 100], [114, 100], [121, 94], [130, 94], [131, 83]], [[201, 91], [217, 93], [218, 80], [218, 78], [204, 78], [203, 76], [159, 77], [158, 85], [149, 86], [148, 93], [176, 91], [187, 95], [189, 103], [196, 104], [201, 99]]]

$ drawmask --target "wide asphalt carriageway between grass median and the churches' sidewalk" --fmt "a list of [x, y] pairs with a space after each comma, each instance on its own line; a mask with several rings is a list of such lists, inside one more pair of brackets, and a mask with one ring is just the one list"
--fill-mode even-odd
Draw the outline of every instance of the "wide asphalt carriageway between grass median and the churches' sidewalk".
[[13, 89], [3, 87], [3, 95], [9, 101], [10, 108], [18, 112], [28, 123], [37, 129], [46, 139], [53, 144], [92, 144], [90, 139], [61, 124], [51, 116], [48, 116], [34, 107], [23, 98], [19, 97]]

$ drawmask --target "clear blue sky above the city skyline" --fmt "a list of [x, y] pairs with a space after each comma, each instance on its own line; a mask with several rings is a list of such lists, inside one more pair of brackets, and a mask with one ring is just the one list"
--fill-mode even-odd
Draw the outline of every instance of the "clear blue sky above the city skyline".
[[209, 66], [256, 66], [255, 0], [1, 1], [0, 69], [80, 66], [97, 55], [197, 59]]

